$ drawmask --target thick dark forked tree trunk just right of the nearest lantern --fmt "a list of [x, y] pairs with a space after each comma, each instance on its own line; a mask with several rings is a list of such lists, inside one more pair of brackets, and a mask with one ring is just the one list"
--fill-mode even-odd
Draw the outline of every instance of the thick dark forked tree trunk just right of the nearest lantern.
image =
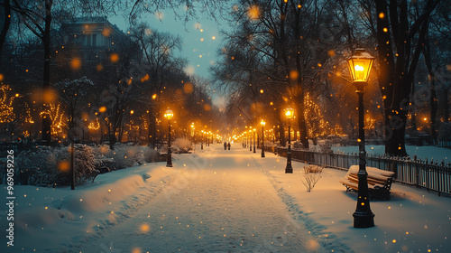
[[[380, 65], [378, 78], [385, 108], [385, 153], [388, 155], [407, 155], [404, 135], [411, 82], [428, 32], [429, 14], [437, 3], [428, 0], [424, 15], [421, 15], [422, 19], [416, 20], [419, 24], [416, 27], [410, 27], [406, 0], [390, 1], [390, 4], [387, 4], [385, 0], [375, 1], [376, 13], [379, 16], [377, 19], [377, 51]], [[387, 29], [389, 29], [388, 32]], [[410, 33], [419, 34], [413, 53]], [[393, 49], [396, 50], [396, 61]]]

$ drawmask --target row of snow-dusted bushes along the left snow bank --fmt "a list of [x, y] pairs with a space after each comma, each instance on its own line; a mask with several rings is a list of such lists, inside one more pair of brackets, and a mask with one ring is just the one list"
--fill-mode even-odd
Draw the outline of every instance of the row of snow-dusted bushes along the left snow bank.
[[[159, 151], [149, 146], [108, 145], [91, 147], [75, 145], [76, 184], [94, 180], [98, 173], [106, 173], [139, 164], [158, 162]], [[15, 182], [32, 185], [70, 184], [70, 146], [37, 146], [23, 151], [15, 161]]]

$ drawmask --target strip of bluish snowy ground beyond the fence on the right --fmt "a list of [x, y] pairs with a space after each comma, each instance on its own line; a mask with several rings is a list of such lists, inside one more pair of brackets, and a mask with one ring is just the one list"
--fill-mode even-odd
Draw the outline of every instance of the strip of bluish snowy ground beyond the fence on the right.
[[[359, 147], [356, 145], [351, 146], [333, 146], [332, 150], [334, 152], [341, 152], [341, 153], [358, 153]], [[366, 145], [365, 150], [368, 154], [374, 154], [374, 155], [383, 155], [385, 153], [385, 146], [384, 145]], [[437, 147], [433, 145], [422, 145], [422, 146], [416, 146], [416, 145], [406, 145], [406, 151], [407, 154], [410, 155], [410, 158], [413, 159], [413, 155], [417, 155], [418, 159], [428, 159], [430, 162], [431, 159], [434, 161], [441, 163], [442, 161], [445, 161], [445, 163], [451, 163], [451, 149], [449, 148], [443, 148], [443, 147]]]

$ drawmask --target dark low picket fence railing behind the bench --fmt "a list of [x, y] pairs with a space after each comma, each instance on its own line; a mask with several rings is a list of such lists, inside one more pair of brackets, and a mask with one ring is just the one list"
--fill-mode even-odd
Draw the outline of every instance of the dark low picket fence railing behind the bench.
[[[279, 155], [286, 157], [287, 149], [278, 147]], [[308, 164], [321, 164], [341, 170], [359, 164], [357, 154], [318, 153], [305, 150], [291, 150], [291, 158]], [[410, 160], [398, 157], [368, 155], [366, 165], [396, 174], [395, 181], [415, 185], [428, 191], [451, 194], [451, 163], [437, 163], [426, 160]]]

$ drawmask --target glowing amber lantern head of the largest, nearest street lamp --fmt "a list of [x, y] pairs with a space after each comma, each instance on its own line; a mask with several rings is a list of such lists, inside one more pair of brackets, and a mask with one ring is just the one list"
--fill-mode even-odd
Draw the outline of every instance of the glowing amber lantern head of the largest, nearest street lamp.
[[373, 67], [374, 57], [364, 49], [355, 49], [354, 55], [347, 62], [354, 82], [367, 82]]

